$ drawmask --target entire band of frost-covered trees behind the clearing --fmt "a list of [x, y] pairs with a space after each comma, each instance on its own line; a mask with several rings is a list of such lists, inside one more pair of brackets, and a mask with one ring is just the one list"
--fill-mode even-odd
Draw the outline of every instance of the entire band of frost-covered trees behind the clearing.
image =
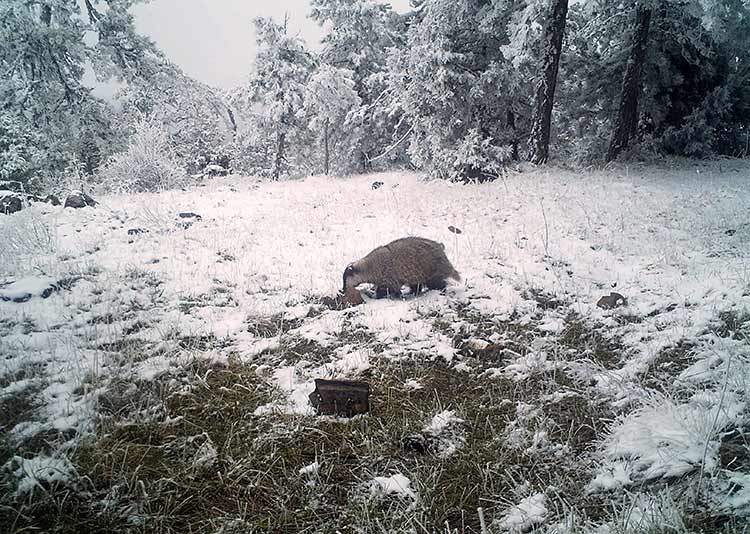
[[[150, 140], [168, 164], [129, 187], [227, 168], [483, 180], [520, 159], [750, 148], [743, 0], [412, 0], [403, 14], [311, 0], [321, 46], [258, 18], [250, 78], [231, 91], [191, 79], [138, 35], [133, 3], [0, 0], [0, 180], [112, 186], [151, 157]], [[92, 95], [86, 68], [120, 80], [114, 102]]]

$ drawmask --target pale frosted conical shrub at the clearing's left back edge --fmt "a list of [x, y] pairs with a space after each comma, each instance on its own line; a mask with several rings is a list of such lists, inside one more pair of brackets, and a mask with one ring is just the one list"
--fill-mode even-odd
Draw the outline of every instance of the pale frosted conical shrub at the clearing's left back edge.
[[186, 181], [167, 131], [143, 118], [136, 122], [128, 148], [112, 156], [99, 173], [99, 185], [110, 193], [161, 191]]

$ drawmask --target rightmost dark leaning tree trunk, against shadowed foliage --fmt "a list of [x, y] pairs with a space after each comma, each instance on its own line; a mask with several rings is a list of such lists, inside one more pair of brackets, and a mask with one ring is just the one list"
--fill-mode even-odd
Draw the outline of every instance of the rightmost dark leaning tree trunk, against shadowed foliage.
[[633, 44], [625, 67], [620, 91], [620, 108], [617, 122], [612, 134], [612, 141], [607, 150], [607, 161], [612, 161], [623, 149], [628, 147], [630, 139], [638, 133], [638, 96], [641, 92], [641, 75], [646, 58], [648, 29], [651, 23], [651, 9], [638, 6], [635, 12], [635, 31]]

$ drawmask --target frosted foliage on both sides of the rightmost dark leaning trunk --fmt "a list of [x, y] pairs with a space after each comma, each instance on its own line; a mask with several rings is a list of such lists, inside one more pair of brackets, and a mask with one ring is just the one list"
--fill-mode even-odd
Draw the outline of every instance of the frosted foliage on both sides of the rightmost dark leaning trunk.
[[[570, 6], [555, 122], [559, 149], [575, 160], [600, 159], [611, 136], [636, 4]], [[651, 140], [663, 154], [745, 155], [748, 6], [731, 0], [649, 5], [637, 140]]]

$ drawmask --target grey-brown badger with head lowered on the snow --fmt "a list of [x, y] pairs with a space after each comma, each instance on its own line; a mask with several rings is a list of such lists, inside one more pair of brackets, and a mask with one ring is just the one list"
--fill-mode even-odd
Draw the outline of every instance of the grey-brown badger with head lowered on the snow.
[[350, 263], [344, 271], [342, 293], [370, 283], [376, 286], [378, 298], [399, 296], [402, 286], [409, 286], [417, 295], [423, 287], [444, 289], [448, 278], [459, 281], [461, 275], [445, 256], [445, 245], [422, 237], [403, 237]]

